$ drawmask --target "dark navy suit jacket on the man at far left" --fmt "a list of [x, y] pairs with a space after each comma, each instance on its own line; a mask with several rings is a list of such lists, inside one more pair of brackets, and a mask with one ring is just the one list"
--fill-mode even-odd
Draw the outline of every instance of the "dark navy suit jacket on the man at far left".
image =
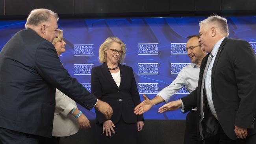
[[70, 77], [52, 43], [31, 29], [16, 33], [0, 53], [0, 127], [51, 137], [56, 88], [87, 109], [97, 101]]

